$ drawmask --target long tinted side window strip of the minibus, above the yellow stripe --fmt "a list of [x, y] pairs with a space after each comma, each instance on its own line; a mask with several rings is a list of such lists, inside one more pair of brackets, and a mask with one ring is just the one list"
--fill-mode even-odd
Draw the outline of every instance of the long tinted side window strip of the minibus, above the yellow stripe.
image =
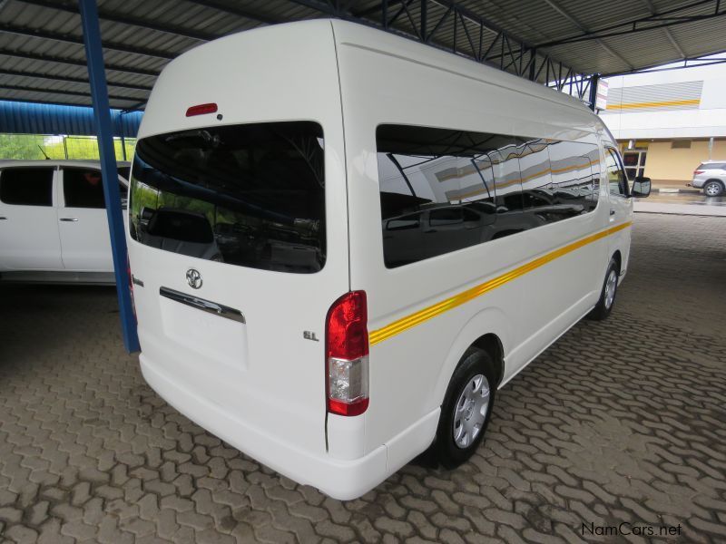
[[387, 267], [571, 218], [597, 204], [594, 144], [382, 125], [377, 146]]

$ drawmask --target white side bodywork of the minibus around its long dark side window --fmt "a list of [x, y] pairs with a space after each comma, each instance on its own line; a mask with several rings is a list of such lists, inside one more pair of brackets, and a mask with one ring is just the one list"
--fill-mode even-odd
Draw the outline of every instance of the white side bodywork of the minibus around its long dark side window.
[[[380, 209], [375, 140], [379, 124], [599, 145], [599, 121], [574, 99], [515, 76], [364, 26], [338, 21], [333, 26], [348, 149], [351, 289], [368, 293], [369, 330], [607, 227], [607, 184], [602, 183], [601, 202], [592, 213], [388, 269], [383, 262], [381, 219], [370, 211]], [[589, 244], [372, 345], [370, 390], [375, 393], [366, 413], [366, 452], [440, 405], [453, 368], [479, 336], [499, 337], [505, 353], [504, 382], [510, 379], [594, 306], [609, 259], [607, 250], [606, 241]], [[467, 333], [469, 323], [476, 325]], [[380, 402], [373, 402], [373, 394]], [[396, 417], [390, 417], [392, 405]], [[331, 443], [334, 440], [330, 438]]]

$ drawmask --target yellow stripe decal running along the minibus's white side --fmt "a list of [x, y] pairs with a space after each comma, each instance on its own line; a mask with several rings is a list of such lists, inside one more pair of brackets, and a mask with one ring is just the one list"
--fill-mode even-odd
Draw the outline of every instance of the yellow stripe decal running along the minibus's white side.
[[564, 255], [567, 255], [568, 253], [573, 252], [575, 249], [582, 248], [587, 244], [590, 244], [601, 238], [608, 237], [611, 234], [618, 232], [619, 230], [623, 230], [623, 228], [630, 227], [632, 224], [632, 221], [628, 221], [627, 223], [623, 223], [616, 227], [607, 228], [591, 236], [581, 238], [576, 242], [573, 242], [572, 244], [568, 244], [567, 246], [564, 246], [562, 248], [555, 249], [554, 251], [543, 255], [542, 257], [535, 258], [535, 260], [530, 261], [525, 265], [522, 265], [521, 267], [516, 267], [514, 270], [510, 270], [509, 272], [506, 272], [501, 276], [497, 276], [494, 279], [490, 279], [483, 284], [479, 284], [478, 286], [466, 289], [466, 291], [463, 291], [458, 295], [450, 296], [433, 306], [428, 306], [423, 310], [419, 310], [415, 314], [411, 314], [410, 316], [397, 319], [390, 325], [386, 325], [376, 331], [371, 331], [371, 333], [368, 335], [368, 343], [370, 345], [374, 345], [378, 344], [379, 342], [383, 342], [391, 336], [395, 336], [398, 333], [407, 331], [409, 328], [420, 325], [421, 323], [424, 323], [425, 321], [428, 321], [433, 317], [440, 316], [441, 314], [452, 308], [456, 308], [456, 306], [461, 306], [466, 302], [469, 302], [470, 300], [474, 300], [477, 296], [482, 296], [489, 291], [493, 291], [496, 287], [501, 287], [505, 285], [505, 283], [508, 283], [513, 279], [516, 279], [517, 277], [524, 276], [526, 273], [532, 272], [536, 268], [542, 267], [547, 263], [554, 261], [555, 258], [562, 257]]

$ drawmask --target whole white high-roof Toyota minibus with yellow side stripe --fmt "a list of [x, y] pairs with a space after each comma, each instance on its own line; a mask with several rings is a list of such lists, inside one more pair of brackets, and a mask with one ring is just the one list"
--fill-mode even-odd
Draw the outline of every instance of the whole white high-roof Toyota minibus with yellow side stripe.
[[142, 374], [334, 498], [429, 448], [456, 467], [496, 390], [610, 313], [649, 192], [581, 102], [423, 44], [338, 20], [204, 44], [132, 165]]

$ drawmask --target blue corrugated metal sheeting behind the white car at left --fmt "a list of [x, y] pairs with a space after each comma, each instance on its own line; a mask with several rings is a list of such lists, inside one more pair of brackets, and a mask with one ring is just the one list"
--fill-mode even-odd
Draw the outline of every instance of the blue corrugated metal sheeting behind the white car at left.
[[[142, 112], [112, 110], [113, 135], [132, 138], [139, 131]], [[0, 101], [0, 132], [28, 134], [95, 134], [93, 108]]]

